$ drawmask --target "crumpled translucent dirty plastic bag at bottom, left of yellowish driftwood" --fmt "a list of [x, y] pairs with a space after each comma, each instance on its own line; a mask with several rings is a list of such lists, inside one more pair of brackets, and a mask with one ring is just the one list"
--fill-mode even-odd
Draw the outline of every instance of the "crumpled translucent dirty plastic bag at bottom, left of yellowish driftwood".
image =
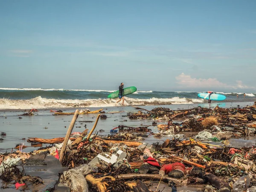
[[87, 181], [84, 176], [96, 169], [96, 166], [80, 165], [70, 169], [60, 177], [60, 182], [70, 187], [73, 192], [88, 192]]

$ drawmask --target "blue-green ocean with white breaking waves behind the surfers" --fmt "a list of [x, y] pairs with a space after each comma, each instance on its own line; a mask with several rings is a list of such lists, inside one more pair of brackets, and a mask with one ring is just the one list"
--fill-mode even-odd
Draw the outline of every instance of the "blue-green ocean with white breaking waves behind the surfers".
[[[0, 109], [50, 109], [116, 107], [116, 99], [108, 99], [114, 90], [64, 90], [41, 88], [0, 88]], [[204, 92], [204, 91], [203, 91]], [[197, 97], [202, 92], [140, 91], [125, 96], [125, 105], [180, 105], [207, 103]], [[256, 93], [222, 93], [222, 102], [254, 102]], [[239, 98], [236, 97], [239, 94]], [[221, 102], [220, 102], [221, 103]]]

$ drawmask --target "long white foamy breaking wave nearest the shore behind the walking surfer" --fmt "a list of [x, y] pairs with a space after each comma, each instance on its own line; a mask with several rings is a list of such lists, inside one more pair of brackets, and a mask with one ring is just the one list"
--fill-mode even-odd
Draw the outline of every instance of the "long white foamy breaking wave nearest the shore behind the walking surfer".
[[[84, 108], [84, 107], [114, 107], [120, 106], [117, 99], [47, 99], [41, 96], [33, 99], [0, 99], [0, 109], [50, 109], [50, 108]], [[125, 105], [172, 105], [202, 103], [203, 99], [188, 99], [172, 97], [169, 99], [133, 99], [125, 98]]]

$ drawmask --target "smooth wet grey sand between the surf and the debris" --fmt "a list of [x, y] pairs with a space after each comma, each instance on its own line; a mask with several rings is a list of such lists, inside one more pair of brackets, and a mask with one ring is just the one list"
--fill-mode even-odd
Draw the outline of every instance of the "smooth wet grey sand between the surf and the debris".
[[[166, 107], [171, 108], [172, 110], [176, 109], [188, 109], [193, 107], [210, 107], [214, 108], [216, 105], [224, 108], [230, 108], [237, 105], [246, 106], [253, 105], [253, 102], [243, 102], [243, 103], [203, 103], [203, 104], [193, 104], [193, 105], [163, 105], [163, 106], [138, 106], [148, 110], [151, 110], [155, 107]], [[76, 109], [80, 108], [65, 108], [61, 109], [63, 112], [74, 112]], [[97, 110], [99, 108], [89, 108], [91, 111]], [[0, 152], [11, 151], [12, 148], [19, 143], [24, 143], [24, 145], [31, 146], [31, 143], [27, 143], [26, 140], [28, 137], [38, 137], [44, 139], [52, 139], [55, 137], [65, 137], [67, 128], [70, 125], [70, 121], [73, 118], [73, 115], [58, 115], [54, 116], [53, 113], [50, 113], [50, 109], [38, 109], [38, 112], [35, 112], [35, 116], [19, 116], [24, 112], [24, 110], [2, 110], [0, 111], [0, 132], [6, 132], [6, 136], [1, 137], [3, 140], [0, 141]], [[54, 110], [54, 109], [53, 109]], [[59, 109], [57, 109], [59, 110]], [[131, 106], [120, 106], [120, 107], [109, 107], [104, 108], [106, 112], [105, 115], [108, 116], [107, 119], [99, 120], [96, 130], [100, 129], [105, 132], [99, 133], [100, 135], [110, 134], [110, 130], [118, 125], [126, 125], [138, 127], [140, 125], [150, 125], [149, 128], [152, 129], [152, 132], [158, 132], [157, 126], [152, 126], [154, 119], [132, 119], [130, 120], [126, 115], [128, 112], [137, 111]], [[124, 111], [121, 113], [108, 113], [113, 111]], [[73, 132], [82, 132], [84, 131], [86, 124], [87, 129], [93, 127], [94, 121], [97, 114], [84, 114], [79, 115], [76, 125], [73, 128]], [[22, 117], [22, 119], [19, 119]], [[127, 121], [126, 121], [127, 120]], [[79, 121], [93, 121], [93, 122], [79, 122]], [[163, 121], [164, 122], [164, 121]], [[161, 122], [157, 122], [161, 124]], [[66, 126], [66, 128], [65, 128]], [[191, 137], [193, 134], [189, 133], [188, 137]], [[25, 138], [25, 140], [22, 140]], [[166, 138], [156, 139], [154, 137], [149, 137], [146, 139], [147, 143], [161, 142]], [[49, 145], [49, 144], [47, 144]], [[44, 145], [45, 146], [45, 145]], [[28, 147], [24, 148], [23, 151], [29, 152], [37, 148]]]

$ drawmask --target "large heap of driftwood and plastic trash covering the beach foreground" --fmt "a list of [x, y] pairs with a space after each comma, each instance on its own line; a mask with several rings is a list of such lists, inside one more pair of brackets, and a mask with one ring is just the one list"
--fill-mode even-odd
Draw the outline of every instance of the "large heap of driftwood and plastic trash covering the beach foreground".
[[[99, 114], [90, 133], [85, 129], [73, 137], [71, 129], [65, 138], [29, 138], [30, 143], [52, 145], [30, 153], [0, 154], [0, 179], [15, 181], [16, 188], [25, 191], [37, 186], [37, 190], [49, 192], [61, 187], [73, 192], [175, 192], [187, 186], [188, 192], [195, 188], [202, 192], [256, 192], [256, 148], [249, 139], [256, 134], [256, 105], [139, 109], [128, 117], [153, 121], [157, 133], [148, 126], [120, 125], [101, 137], [98, 132], [92, 134]], [[78, 110], [73, 118], [76, 115]], [[194, 135], [186, 137], [187, 133]], [[164, 142], [143, 143], [148, 137], [162, 137]], [[22, 170], [25, 166], [49, 166], [53, 161], [58, 162], [58, 170], [63, 169], [55, 175], [57, 182]]]

